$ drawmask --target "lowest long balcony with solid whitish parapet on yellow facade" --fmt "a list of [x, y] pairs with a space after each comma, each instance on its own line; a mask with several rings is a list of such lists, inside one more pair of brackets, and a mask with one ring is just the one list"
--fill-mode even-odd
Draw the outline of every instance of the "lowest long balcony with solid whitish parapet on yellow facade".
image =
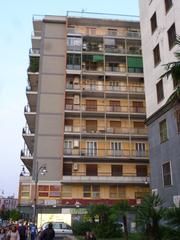
[[85, 172], [73, 173], [73, 176], [63, 176], [63, 183], [112, 183], [147, 185], [147, 176], [137, 176], [136, 173], [124, 173], [112, 176], [111, 172], [98, 172], [98, 176], [86, 176]]

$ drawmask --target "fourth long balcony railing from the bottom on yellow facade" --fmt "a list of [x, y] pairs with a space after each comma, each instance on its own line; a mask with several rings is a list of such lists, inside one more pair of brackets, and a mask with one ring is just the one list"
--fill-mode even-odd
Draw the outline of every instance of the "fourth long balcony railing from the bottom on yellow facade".
[[83, 111], [83, 112], [96, 112], [96, 113], [145, 113], [145, 107], [133, 106], [105, 106], [105, 105], [73, 105], [65, 104], [65, 110]]

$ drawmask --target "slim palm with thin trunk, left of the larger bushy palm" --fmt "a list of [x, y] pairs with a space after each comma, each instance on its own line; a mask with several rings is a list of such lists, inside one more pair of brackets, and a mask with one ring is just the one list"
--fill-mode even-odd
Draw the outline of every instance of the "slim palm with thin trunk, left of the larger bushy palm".
[[131, 207], [127, 200], [122, 200], [114, 206], [114, 209], [117, 213], [117, 216], [122, 216], [124, 224], [124, 237], [128, 240], [128, 226], [127, 226], [127, 214], [130, 211]]

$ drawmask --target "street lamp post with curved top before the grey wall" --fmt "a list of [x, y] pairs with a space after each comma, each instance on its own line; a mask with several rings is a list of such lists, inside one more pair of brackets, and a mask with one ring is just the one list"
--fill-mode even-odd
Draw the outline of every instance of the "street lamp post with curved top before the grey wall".
[[39, 173], [41, 175], [45, 175], [47, 173], [46, 164], [42, 164], [39, 166], [38, 161], [36, 162], [36, 168], [35, 168], [35, 190], [34, 190], [34, 207], [33, 207], [33, 216], [32, 220], [35, 223], [36, 222], [36, 208], [37, 208], [37, 184], [39, 180]]

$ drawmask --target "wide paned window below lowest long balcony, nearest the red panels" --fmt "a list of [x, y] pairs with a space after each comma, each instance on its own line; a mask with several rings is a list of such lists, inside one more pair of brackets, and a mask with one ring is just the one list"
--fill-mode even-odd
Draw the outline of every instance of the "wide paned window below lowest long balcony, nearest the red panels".
[[84, 198], [99, 198], [100, 197], [100, 185], [99, 184], [85, 184], [83, 186]]

